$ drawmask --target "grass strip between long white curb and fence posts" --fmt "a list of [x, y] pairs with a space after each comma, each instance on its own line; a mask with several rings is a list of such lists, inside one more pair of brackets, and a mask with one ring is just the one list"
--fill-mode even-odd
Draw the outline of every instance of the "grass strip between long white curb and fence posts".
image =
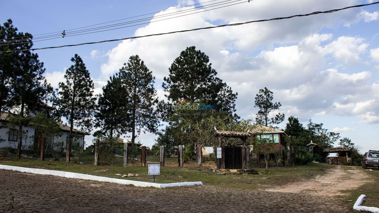
[[[120, 161], [120, 162], [118, 162]], [[51, 169], [58, 171], [77, 172], [82, 174], [90, 174], [104, 177], [113, 177], [120, 179], [139, 180], [152, 182], [152, 175], [147, 175], [147, 166], [128, 166], [123, 167], [122, 158], [116, 158], [114, 165], [110, 166], [95, 166], [93, 165], [91, 155], [80, 159], [80, 162], [85, 164], [66, 163], [61, 161], [39, 161], [37, 159], [16, 159], [10, 157], [0, 158], [0, 164], [10, 166], [21, 166], [28, 168]], [[119, 165], [119, 163], [121, 165]], [[326, 173], [326, 170], [332, 168], [332, 165], [324, 163], [312, 163], [304, 166], [286, 166], [286, 167], [271, 167], [269, 171], [264, 171], [263, 168], [256, 168], [258, 174], [251, 175], [217, 175], [212, 172], [211, 168], [190, 168], [190, 167], [161, 167], [161, 175], [155, 176], [157, 183], [173, 183], [173, 182], [192, 182], [202, 181], [205, 185], [222, 186], [228, 188], [244, 188], [244, 189], [265, 189], [275, 186], [283, 186], [301, 180], [313, 179], [316, 175]], [[115, 174], [138, 174], [139, 177], [122, 178]], [[233, 179], [233, 178], [240, 179]]]

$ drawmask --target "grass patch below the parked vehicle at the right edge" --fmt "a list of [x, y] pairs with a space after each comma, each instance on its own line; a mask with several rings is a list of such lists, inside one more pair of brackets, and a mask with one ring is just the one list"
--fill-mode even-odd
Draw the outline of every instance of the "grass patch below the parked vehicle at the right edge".
[[[357, 168], [362, 169], [360, 166]], [[349, 206], [353, 206], [357, 201], [357, 198], [361, 194], [365, 194], [365, 200], [363, 201], [363, 206], [373, 206], [379, 208], [379, 188], [378, 188], [378, 177], [379, 170], [377, 168], [369, 168], [373, 171], [367, 171], [367, 169], [362, 169], [363, 172], [367, 174], [367, 178], [362, 180], [364, 184], [353, 190], [342, 190], [341, 192], [347, 193], [348, 197], [343, 197], [343, 202]], [[358, 212], [358, 211], [357, 211]]]

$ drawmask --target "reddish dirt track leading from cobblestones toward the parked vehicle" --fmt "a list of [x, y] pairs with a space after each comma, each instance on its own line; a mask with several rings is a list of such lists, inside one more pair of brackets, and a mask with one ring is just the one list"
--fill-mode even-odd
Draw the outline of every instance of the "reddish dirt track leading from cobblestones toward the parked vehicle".
[[349, 190], [362, 185], [364, 178], [366, 178], [366, 174], [362, 169], [336, 166], [329, 170], [328, 174], [319, 176], [315, 180], [267, 191], [335, 196], [341, 195], [339, 190]]

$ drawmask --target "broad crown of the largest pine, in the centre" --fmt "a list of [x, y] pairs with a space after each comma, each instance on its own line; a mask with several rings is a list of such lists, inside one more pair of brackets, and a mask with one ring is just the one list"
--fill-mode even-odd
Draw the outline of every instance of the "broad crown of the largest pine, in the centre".
[[204, 52], [194, 46], [187, 47], [171, 64], [169, 76], [163, 78], [162, 86], [169, 92], [167, 97], [173, 103], [203, 102], [232, 116], [236, 111], [237, 93], [216, 77], [217, 72], [211, 65]]

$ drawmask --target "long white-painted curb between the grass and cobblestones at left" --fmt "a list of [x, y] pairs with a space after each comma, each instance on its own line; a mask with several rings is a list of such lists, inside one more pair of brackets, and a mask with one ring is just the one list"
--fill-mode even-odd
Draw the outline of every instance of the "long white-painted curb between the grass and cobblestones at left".
[[25, 168], [25, 167], [19, 167], [19, 166], [8, 166], [8, 165], [2, 165], [2, 164], [0, 164], [0, 169], [7, 169], [7, 170], [18, 171], [18, 172], [27, 172], [27, 173], [41, 174], [41, 175], [54, 175], [54, 176], [59, 176], [59, 177], [68, 177], [68, 178], [83, 179], [83, 180], [97, 180], [101, 182], [119, 183], [119, 184], [125, 184], [125, 185], [131, 184], [134, 186], [142, 186], [142, 187], [152, 186], [152, 187], [157, 187], [157, 188], [164, 188], [164, 187], [172, 187], [172, 186], [203, 185], [203, 183], [200, 181], [199, 182], [181, 182], [181, 183], [149, 183], [149, 182], [136, 181], [136, 180], [124, 180], [124, 179], [117, 179], [117, 178], [110, 178], [110, 177], [80, 174], [80, 173], [74, 173], [74, 172], [64, 172], [64, 171], [47, 170], [47, 169], [33, 169], [33, 168]]

